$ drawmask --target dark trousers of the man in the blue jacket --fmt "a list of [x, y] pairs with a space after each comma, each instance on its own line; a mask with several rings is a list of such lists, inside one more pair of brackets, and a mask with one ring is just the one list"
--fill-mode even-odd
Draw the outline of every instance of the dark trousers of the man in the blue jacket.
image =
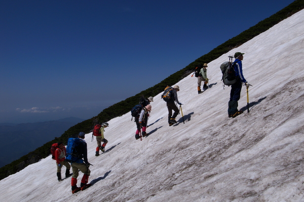
[[238, 101], [241, 97], [242, 81], [238, 78], [237, 82], [231, 85], [230, 100], [228, 103], [228, 114], [235, 114], [238, 111]]

